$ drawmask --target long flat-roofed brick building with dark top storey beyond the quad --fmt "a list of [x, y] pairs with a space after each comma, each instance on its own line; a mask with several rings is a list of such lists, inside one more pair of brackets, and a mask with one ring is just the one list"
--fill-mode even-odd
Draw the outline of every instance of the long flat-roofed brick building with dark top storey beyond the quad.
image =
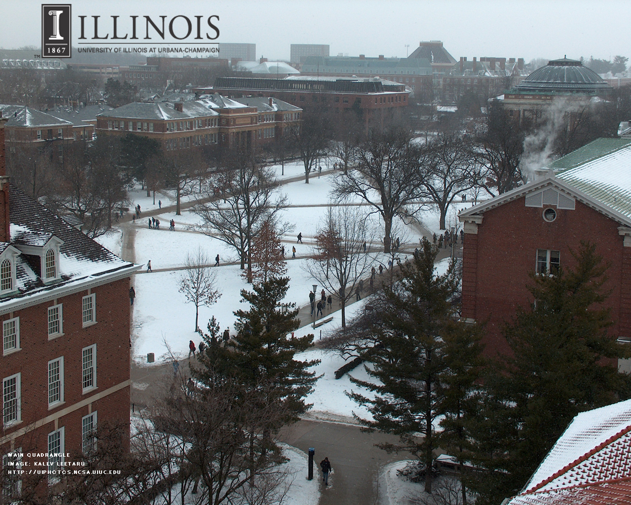
[[355, 110], [366, 128], [372, 122], [392, 118], [408, 106], [404, 84], [377, 78], [295, 76], [286, 79], [220, 77], [210, 90], [231, 98], [274, 97], [303, 109], [305, 114], [329, 109], [335, 113]]

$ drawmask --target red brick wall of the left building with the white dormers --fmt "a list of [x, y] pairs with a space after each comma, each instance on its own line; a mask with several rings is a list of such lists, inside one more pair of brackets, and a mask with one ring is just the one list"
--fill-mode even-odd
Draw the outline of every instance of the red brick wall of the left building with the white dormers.
[[[68, 408], [74, 403], [89, 396], [96, 395], [129, 379], [129, 278], [92, 288], [96, 295], [97, 324], [83, 328], [81, 298], [88, 294], [87, 290], [57, 299], [63, 304], [63, 332], [64, 335], [48, 340], [47, 307], [54, 302], [45, 302], [33, 307], [13, 312], [13, 317], [20, 316], [20, 347], [21, 350], [4, 356], [3, 377], [21, 372], [21, 419], [15, 429], [22, 428], [38, 419], [43, 419], [56, 411]], [[11, 314], [4, 314], [1, 319], [6, 320]], [[82, 364], [81, 350], [92, 344], [97, 344], [97, 389], [85, 395], [82, 393]], [[49, 360], [64, 357], [64, 403], [59, 407], [48, 408], [48, 369]], [[117, 400], [104, 412], [98, 413], [98, 422], [105, 421], [114, 415], [117, 419], [129, 422], [129, 388], [115, 393]], [[109, 404], [112, 398], [98, 400], [92, 406], [97, 410], [101, 403]], [[81, 415], [80, 415], [81, 413]], [[66, 415], [59, 425], [65, 423], [66, 418], [78, 417], [78, 424], [71, 431], [78, 429], [78, 440], [81, 439], [81, 416], [88, 413], [87, 407]], [[74, 420], [73, 420], [74, 424]], [[42, 433], [52, 431], [51, 423], [42, 428]], [[66, 449], [76, 449], [76, 437], [66, 428]], [[8, 429], [9, 434], [13, 429]], [[44, 435], [42, 435], [44, 436]], [[25, 440], [30, 436], [26, 436]], [[70, 445], [70, 444], [73, 445]], [[27, 448], [25, 448], [26, 450]]]

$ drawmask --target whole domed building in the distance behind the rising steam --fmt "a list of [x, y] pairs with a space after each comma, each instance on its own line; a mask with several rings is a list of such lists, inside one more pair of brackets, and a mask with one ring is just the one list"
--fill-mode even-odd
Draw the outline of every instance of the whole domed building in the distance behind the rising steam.
[[613, 90], [596, 72], [580, 61], [563, 57], [548, 61], [522, 80], [516, 88], [493, 100], [501, 102], [509, 116], [536, 124], [552, 104], [563, 102], [564, 112], [606, 104]]

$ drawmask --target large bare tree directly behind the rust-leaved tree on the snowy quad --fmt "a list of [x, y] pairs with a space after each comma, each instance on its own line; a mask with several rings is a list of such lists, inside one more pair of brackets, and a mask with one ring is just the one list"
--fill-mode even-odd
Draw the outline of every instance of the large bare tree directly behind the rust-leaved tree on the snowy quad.
[[[278, 181], [270, 169], [261, 167], [249, 151], [230, 153], [226, 169], [209, 179], [202, 190], [204, 203], [194, 207], [202, 218], [199, 230], [232, 247], [241, 261], [248, 264], [248, 282], [252, 282], [251, 242], [266, 220], [287, 205], [285, 194], [278, 191]], [[279, 234], [288, 225], [281, 225]]]

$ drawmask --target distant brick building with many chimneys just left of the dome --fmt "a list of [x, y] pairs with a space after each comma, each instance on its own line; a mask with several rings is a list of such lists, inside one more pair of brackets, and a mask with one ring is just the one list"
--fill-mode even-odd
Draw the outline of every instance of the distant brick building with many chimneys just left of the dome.
[[524, 59], [481, 57], [477, 61], [467, 61], [461, 57], [460, 62], [452, 66], [442, 78], [443, 103], [456, 104], [465, 93], [473, 92], [486, 107], [489, 98], [497, 97], [509, 90], [528, 76], [524, 70]]

